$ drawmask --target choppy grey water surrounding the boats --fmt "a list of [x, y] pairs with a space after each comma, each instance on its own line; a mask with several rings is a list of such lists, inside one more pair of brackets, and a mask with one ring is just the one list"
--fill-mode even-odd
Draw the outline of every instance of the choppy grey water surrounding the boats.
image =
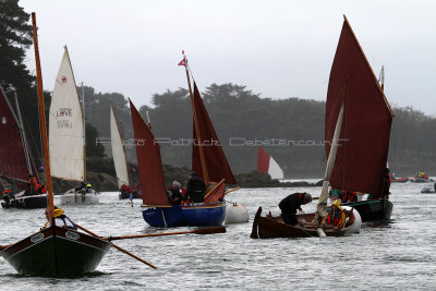
[[[183, 234], [117, 241], [121, 247], [159, 267], [111, 248], [97, 271], [81, 279], [22, 277], [0, 258], [1, 290], [186, 290], [186, 289], [436, 289], [436, 194], [421, 194], [423, 184], [393, 183], [392, 221], [364, 225], [344, 238], [252, 240], [259, 205], [279, 213], [289, 193], [311, 189], [244, 189], [228, 199], [243, 203], [249, 223], [230, 225], [227, 233]], [[153, 229], [142, 218], [140, 201], [131, 207], [117, 193], [102, 193], [99, 205], [65, 206], [66, 215], [100, 235], [126, 235], [190, 228]], [[315, 204], [307, 205], [306, 211]], [[0, 244], [36, 232], [44, 210], [1, 209]]]

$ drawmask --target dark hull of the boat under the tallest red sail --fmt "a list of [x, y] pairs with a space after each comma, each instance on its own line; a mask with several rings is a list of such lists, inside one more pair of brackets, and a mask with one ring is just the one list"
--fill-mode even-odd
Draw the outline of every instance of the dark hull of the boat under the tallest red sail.
[[343, 204], [353, 207], [361, 215], [362, 221], [389, 221], [393, 204], [388, 199], [361, 201]]

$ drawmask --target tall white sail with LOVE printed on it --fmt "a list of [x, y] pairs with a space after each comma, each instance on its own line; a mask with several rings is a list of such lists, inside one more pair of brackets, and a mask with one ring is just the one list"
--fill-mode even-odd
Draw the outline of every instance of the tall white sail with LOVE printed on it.
[[83, 117], [70, 57], [65, 47], [55, 82], [49, 117], [51, 175], [84, 181]]

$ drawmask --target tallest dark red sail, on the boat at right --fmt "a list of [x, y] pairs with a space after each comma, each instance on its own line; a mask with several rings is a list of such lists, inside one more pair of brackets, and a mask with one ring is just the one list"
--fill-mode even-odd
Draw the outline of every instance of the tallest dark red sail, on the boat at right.
[[[325, 138], [331, 141], [342, 101], [344, 113], [336, 162], [335, 189], [358, 191], [378, 198], [389, 149], [392, 112], [347, 19], [334, 64], [326, 104]], [[326, 143], [326, 156], [330, 145]]]

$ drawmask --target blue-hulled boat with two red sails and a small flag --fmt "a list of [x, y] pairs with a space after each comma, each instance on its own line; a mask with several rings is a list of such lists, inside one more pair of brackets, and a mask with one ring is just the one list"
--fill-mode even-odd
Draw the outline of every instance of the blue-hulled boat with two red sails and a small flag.
[[[168, 204], [159, 147], [154, 145], [155, 137], [149, 126], [131, 102], [135, 140], [145, 143], [145, 146], [136, 146], [144, 202], [142, 207], [146, 208], [143, 217], [152, 227], [221, 225], [226, 216], [225, 183], [235, 184], [235, 180], [195, 82], [192, 90], [184, 54], [179, 64], [185, 66], [193, 111], [192, 170], [203, 177], [208, 193], [202, 205]], [[210, 184], [214, 187], [210, 189]]]

